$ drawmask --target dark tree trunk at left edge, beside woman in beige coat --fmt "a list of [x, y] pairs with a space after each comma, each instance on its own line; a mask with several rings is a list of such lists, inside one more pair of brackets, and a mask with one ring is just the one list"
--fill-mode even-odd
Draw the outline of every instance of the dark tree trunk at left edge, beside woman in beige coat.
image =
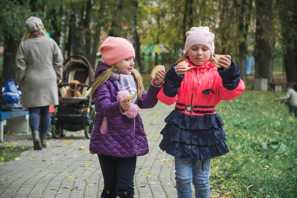
[[19, 42], [15, 41], [11, 35], [8, 33], [3, 33], [3, 35], [5, 36], [1, 87], [5, 86], [8, 78], [13, 78], [15, 80], [15, 55], [19, 47]]

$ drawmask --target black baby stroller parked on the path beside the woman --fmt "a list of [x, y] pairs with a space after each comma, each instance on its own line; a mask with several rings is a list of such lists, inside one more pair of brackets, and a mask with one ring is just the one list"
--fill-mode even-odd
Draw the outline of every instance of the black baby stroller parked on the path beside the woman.
[[65, 136], [65, 131], [84, 130], [87, 139], [94, 129], [95, 105], [91, 102], [94, 70], [81, 55], [73, 55], [63, 63], [62, 82], [59, 83], [59, 104], [51, 116], [53, 138]]

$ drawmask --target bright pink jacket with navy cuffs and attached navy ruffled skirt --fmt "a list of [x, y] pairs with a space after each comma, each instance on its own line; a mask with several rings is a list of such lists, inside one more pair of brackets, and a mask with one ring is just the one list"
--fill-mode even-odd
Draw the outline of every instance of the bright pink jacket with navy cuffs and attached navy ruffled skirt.
[[227, 70], [216, 68], [207, 61], [184, 75], [178, 75], [173, 64], [157, 98], [175, 109], [166, 117], [159, 147], [168, 154], [181, 158], [210, 159], [229, 151], [226, 133], [215, 105], [221, 100], [235, 99], [245, 90], [240, 71], [232, 59]]

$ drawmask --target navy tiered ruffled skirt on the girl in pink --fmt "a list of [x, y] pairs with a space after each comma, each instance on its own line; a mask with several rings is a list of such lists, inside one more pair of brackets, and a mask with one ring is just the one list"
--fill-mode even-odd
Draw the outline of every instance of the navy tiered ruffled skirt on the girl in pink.
[[159, 147], [168, 154], [192, 159], [211, 159], [229, 151], [225, 144], [224, 122], [218, 114], [192, 118], [173, 110], [165, 119]]

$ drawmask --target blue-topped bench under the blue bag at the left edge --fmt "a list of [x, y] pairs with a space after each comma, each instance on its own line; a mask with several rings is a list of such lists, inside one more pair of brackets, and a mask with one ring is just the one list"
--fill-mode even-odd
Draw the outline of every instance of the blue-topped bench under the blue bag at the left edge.
[[0, 142], [3, 142], [3, 133], [10, 131], [13, 133], [28, 133], [29, 111], [25, 108], [0, 111]]

